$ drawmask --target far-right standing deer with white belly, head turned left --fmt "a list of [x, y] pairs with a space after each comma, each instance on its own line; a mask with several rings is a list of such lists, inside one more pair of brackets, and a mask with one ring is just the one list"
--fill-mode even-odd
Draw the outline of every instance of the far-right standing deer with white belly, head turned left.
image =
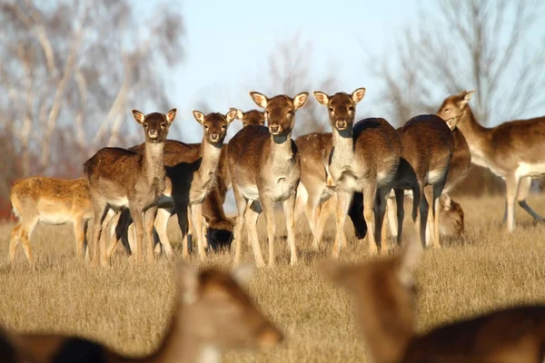
[[517, 120], [485, 128], [475, 119], [469, 102], [475, 91], [447, 97], [437, 111], [443, 120], [465, 112], [458, 128], [467, 140], [471, 162], [487, 167], [506, 186], [507, 229], [515, 229], [515, 201], [537, 221], [543, 221], [526, 203], [531, 178], [545, 175], [545, 117]]

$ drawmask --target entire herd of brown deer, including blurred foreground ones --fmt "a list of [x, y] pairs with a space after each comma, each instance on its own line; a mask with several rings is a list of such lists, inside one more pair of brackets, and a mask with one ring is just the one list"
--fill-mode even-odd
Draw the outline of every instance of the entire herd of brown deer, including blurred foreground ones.
[[[122, 357], [84, 338], [24, 336], [6, 330], [0, 331], [0, 356], [13, 362], [212, 362], [227, 348], [275, 346], [283, 339], [281, 330], [239, 284], [252, 270], [241, 264], [244, 227], [254, 264], [265, 266], [257, 232], [262, 211], [268, 266], [274, 266], [274, 203], [282, 201], [291, 265], [298, 260], [298, 217], [306, 215], [312, 248], [318, 250], [334, 211], [333, 260], [320, 262], [318, 268], [352, 293], [355, 323], [370, 361], [545, 361], [545, 306], [499, 310], [425, 335], [414, 328], [413, 270], [424, 247], [441, 247], [441, 235], [463, 235], [463, 211], [448, 192], [464, 179], [471, 162], [505, 181], [508, 231], [515, 228], [515, 201], [543, 221], [526, 197], [531, 178], [545, 175], [545, 117], [484, 128], [471, 112], [474, 93], [451, 95], [437, 113], [417, 115], [396, 130], [382, 118], [355, 122], [364, 88], [331, 95], [316, 91], [313, 96], [324, 106], [332, 132], [312, 132], [295, 140], [296, 113], [309, 102], [306, 92], [271, 98], [251, 92], [263, 111], [193, 111], [203, 127], [202, 142], [193, 144], [167, 139], [176, 109], [166, 114], [133, 110], [144, 143], [101, 149], [84, 162], [81, 179], [33, 177], [15, 182], [11, 201], [18, 223], [11, 234], [9, 260], [15, 259], [20, 243], [34, 263], [30, 238], [38, 222], [72, 222], [76, 254], [93, 265], [108, 266], [119, 240], [135, 263], [152, 261], [159, 253], [172, 257], [166, 226], [175, 213], [183, 260], [190, 257], [190, 240], [196, 247], [192, 253], [201, 260], [213, 250], [231, 247], [233, 270], [198, 271], [186, 261], [178, 263], [173, 318], [158, 350], [147, 358]], [[234, 119], [243, 122], [243, 129], [226, 143]], [[223, 211], [230, 189], [236, 202], [234, 219]], [[401, 243], [406, 197], [411, 199], [413, 231]], [[357, 239], [367, 238], [371, 254], [388, 255], [387, 224], [399, 251], [360, 265], [336, 261], [346, 244], [347, 215]], [[91, 220], [92, 252], [86, 240]]]

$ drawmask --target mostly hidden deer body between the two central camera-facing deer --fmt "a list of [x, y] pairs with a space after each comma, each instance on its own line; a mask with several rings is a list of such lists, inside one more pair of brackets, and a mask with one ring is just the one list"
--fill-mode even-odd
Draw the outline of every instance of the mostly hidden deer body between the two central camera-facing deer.
[[[317, 250], [325, 223], [332, 211], [335, 211], [337, 203], [337, 195], [330, 188], [331, 175], [326, 169], [326, 155], [332, 149], [332, 132], [308, 133], [295, 139], [295, 144], [301, 157], [301, 182], [295, 201], [295, 225], [304, 210], [313, 235], [312, 247]], [[355, 235], [362, 239], [367, 232], [362, 212], [351, 208], [349, 216]]]

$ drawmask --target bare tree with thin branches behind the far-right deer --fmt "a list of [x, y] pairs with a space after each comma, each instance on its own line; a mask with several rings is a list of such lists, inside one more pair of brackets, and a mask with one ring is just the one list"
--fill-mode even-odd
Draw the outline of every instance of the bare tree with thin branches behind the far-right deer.
[[387, 54], [370, 58], [391, 107], [382, 111], [404, 123], [465, 89], [477, 90], [471, 106], [484, 124], [542, 109], [545, 34], [534, 26], [542, 10], [540, 0], [420, 4], [417, 27]]

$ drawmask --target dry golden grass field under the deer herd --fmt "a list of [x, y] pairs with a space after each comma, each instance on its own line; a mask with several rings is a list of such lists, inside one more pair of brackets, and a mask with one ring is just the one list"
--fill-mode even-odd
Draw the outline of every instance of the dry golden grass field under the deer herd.
[[[450, 240], [441, 250], [426, 250], [417, 272], [421, 331], [487, 309], [545, 302], [545, 226], [534, 225], [518, 208], [518, 229], [510, 235], [500, 224], [501, 198], [457, 201], [465, 211], [466, 240]], [[545, 213], [545, 198], [532, 196], [530, 204]], [[277, 221], [281, 225], [277, 231], [283, 235], [282, 214]], [[264, 249], [263, 218], [260, 225]], [[172, 221], [171, 226], [170, 236], [177, 241], [179, 232]], [[93, 270], [75, 260], [71, 227], [38, 226], [32, 243], [36, 268], [28, 267], [22, 250], [10, 266], [5, 261], [12, 227], [0, 226], [1, 324], [24, 332], [77, 333], [132, 355], [154, 349], [173, 303], [172, 261], [133, 266], [117, 254], [111, 269]], [[346, 231], [349, 244], [342, 259], [368, 259], [366, 243], [354, 239], [351, 226]], [[329, 256], [331, 231], [321, 251], [312, 252], [306, 222], [300, 221], [297, 241], [297, 267], [289, 266], [285, 241], [276, 240], [276, 269], [257, 271], [247, 286], [257, 304], [283, 329], [285, 343], [268, 352], [229, 352], [225, 361], [365, 361], [347, 294], [322, 280], [314, 268], [316, 260]], [[244, 260], [252, 260], [243, 246]], [[227, 268], [231, 258], [213, 255], [207, 263]]]

